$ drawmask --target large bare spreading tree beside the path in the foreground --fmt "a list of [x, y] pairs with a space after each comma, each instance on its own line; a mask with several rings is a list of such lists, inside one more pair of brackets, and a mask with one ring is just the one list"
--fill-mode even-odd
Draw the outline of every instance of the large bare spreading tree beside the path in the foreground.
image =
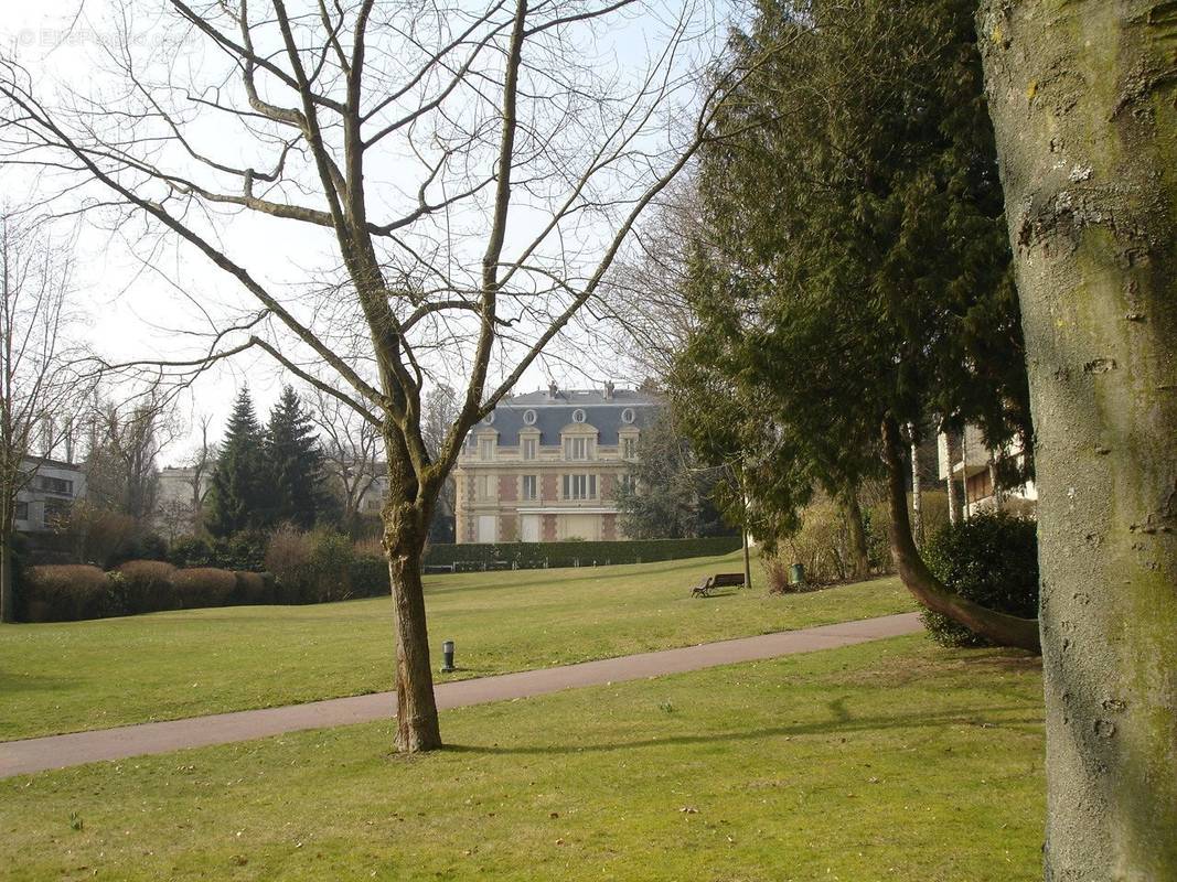
[[[153, 14], [137, 7], [106, 47], [114, 106], [109, 92], [47, 103], [26, 68], [0, 62], [8, 161], [53, 169], [66, 180], [55, 195], [91, 199], [124, 230], [146, 221], [252, 299], [253, 312], [215, 322], [200, 358], [152, 369], [191, 376], [260, 349], [379, 430], [397, 742], [437, 748], [420, 557], [438, 494], [467, 432], [594, 296], [643, 209], [710, 136], [727, 85], [699, 87], [712, 5], [144, 6]], [[640, 12], [645, 52], [614, 29]], [[147, 18], [174, 39], [135, 40]], [[242, 209], [271, 232], [325, 233], [333, 266], [301, 285], [267, 278], [222, 235]], [[451, 370], [459, 412], [431, 455], [421, 394]]]

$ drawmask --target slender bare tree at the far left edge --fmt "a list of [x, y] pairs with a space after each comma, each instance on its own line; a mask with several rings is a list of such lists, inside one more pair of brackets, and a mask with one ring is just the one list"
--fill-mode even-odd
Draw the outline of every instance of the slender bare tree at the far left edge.
[[66, 340], [72, 258], [26, 215], [0, 215], [0, 621], [15, 619], [12, 540], [18, 494], [36, 475], [33, 446], [52, 455], [85, 399]]

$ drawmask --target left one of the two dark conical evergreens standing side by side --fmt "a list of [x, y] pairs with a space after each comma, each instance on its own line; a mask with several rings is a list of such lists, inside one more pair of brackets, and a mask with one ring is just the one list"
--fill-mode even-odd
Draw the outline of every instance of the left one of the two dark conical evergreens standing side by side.
[[264, 440], [250, 389], [242, 388], [233, 403], [208, 493], [206, 526], [214, 536], [264, 524], [262, 503], [270, 483]]

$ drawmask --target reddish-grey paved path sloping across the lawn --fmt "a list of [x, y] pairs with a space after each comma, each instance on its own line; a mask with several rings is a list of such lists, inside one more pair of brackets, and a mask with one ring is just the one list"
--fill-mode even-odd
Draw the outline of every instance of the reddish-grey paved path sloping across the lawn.
[[[758, 637], [724, 640], [683, 649], [625, 655], [619, 659], [525, 670], [518, 674], [459, 680], [435, 687], [438, 708], [481, 704], [490, 701], [544, 695], [580, 686], [618, 683], [661, 674], [700, 670], [718, 664], [772, 659], [778, 655], [833, 649], [870, 640], [896, 637], [920, 629], [915, 613], [823, 624]], [[117, 729], [79, 731], [44, 739], [0, 742], [0, 777], [46, 769], [61, 769], [102, 760], [125, 760], [144, 754], [164, 754], [189, 747], [226, 744], [300, 729], [321, 729], [372, 720], [397, 713], [395, 693], [328, 699], [262, 710], [239, 710], [161, 723], [121, 726]]]

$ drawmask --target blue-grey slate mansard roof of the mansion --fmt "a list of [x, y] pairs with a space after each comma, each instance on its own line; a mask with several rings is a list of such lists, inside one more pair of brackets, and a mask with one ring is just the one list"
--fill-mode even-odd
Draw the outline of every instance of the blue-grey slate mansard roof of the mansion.
[[[554, 399], [548, 392], [528, 392], [499, 402], [491, 416], [474, 427], [467, 443], [472, 446], [473, 435], [490, 428], [498, 432], [500, 447], [517, 447], [521, 429], [539, 429], [540, 446], [554, 447], [560, 443], [560, 430], [574, 422], [572, 415], [580, 409], [585, 412], [585, 425], [599, 433], [597, 443], [612, 446], [618, 443], [619, 429], [650, 426], [661, 407], [663, 401], [657, 395], [636, 389], [616, 389], [609, 399], [600, 389], [557, 389]], [[621, 419], [626, 409], [633, 410], [632, 423]], [[533, 425], [526, 422], [528, 410], [536, 414]]]

